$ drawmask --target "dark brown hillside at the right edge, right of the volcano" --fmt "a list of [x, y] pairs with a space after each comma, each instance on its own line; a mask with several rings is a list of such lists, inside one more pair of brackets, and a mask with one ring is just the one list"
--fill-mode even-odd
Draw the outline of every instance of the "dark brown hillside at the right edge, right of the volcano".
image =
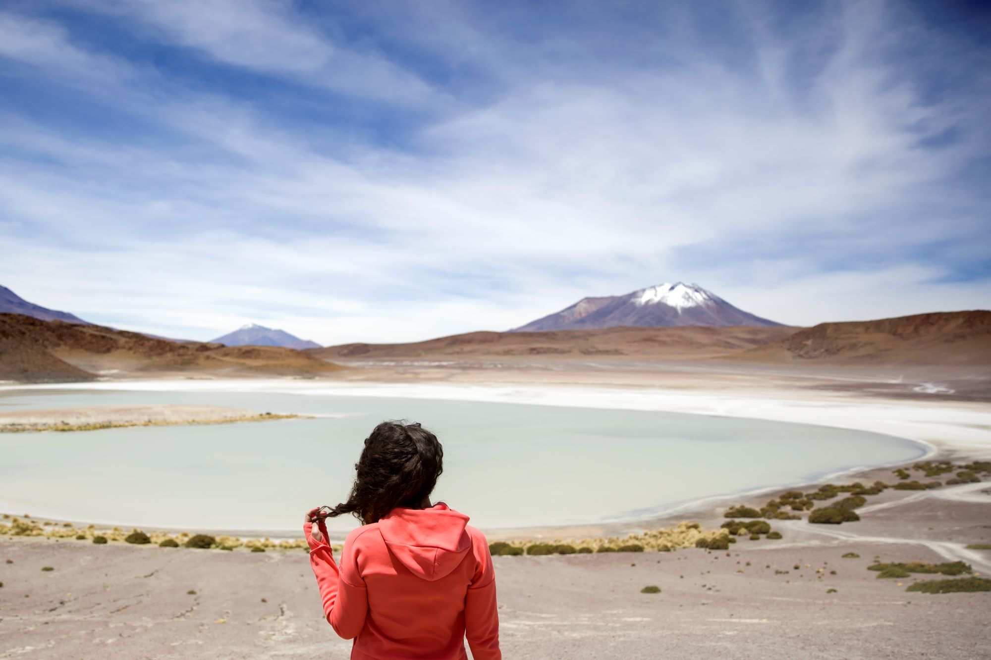
[[991, 365], [991, 311], [821, 323], [731, 359], [757, 363]]

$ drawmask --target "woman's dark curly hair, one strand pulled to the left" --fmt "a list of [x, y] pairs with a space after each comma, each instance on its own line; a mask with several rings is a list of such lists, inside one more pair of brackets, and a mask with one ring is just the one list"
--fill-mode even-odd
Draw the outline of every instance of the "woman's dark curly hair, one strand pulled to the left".
[[436, 435], [418, 423], [385, 421], [365, 438], [348, 501], [327, 515], [351, 513], [363, 524], [371, 524], [396, 506], [416, 508], [433, 492], [443, 463], [444, 449]]

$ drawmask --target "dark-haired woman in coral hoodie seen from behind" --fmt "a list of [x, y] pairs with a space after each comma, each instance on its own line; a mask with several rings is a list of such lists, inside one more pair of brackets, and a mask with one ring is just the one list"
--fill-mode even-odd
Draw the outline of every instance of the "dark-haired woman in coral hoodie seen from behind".
[[[495, 572], [486, 537], [468, 516], [430, 504], [444, 451], [419, 424], [383, 422], [365, 440], [348, 501], [306, 513], [303, 531], [327, 621], [351, 657], [498, 660]], [[351, 513], [341, 564], [326, 517]], [[318, 531], [313, 530], [313, 523]]]

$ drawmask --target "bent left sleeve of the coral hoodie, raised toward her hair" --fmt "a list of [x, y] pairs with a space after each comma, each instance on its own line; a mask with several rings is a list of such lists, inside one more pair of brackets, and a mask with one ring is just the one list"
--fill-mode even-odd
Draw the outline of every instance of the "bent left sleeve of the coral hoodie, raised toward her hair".
[[327, 526], [322, 520], [318, 524], [320, 533], [323, 534], [319, 542], [313, 540], [310, 533], [313, 525], [303, 523], [303, 532], [310, 547], [310, 567], [316, 576], [327, 622], [339, 636], [351, 639], [357, 637], [365, 626], [365, 615], [369, 608], [368, 591], [358, 572], [351, 536], [348, 536], [344, 544], [341, 566], [338, 568], [330, 545], [327, 544]]

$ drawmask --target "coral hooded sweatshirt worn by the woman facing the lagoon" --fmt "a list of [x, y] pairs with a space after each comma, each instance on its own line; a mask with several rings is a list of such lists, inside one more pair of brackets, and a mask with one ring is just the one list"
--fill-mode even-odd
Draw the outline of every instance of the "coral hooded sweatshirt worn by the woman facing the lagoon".
[[444, 502], [393, 508], [348, 534], [340, 567], [318, 525], [319, 543], [303, 524], [310, 566], [353, 659], [467, 660], [467, 636], [475, 660], [500, 660], [492, 557], [467, 515]]

